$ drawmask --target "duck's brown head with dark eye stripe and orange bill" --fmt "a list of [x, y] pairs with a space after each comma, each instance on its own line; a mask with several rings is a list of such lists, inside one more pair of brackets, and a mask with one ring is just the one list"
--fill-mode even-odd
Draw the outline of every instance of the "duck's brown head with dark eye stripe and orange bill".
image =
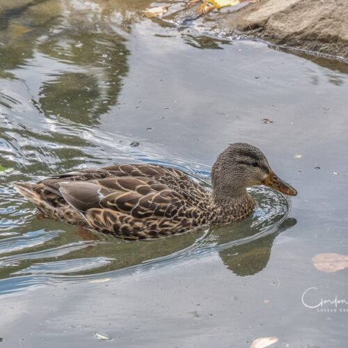
[[286, 195], [297, 191], [272, 171], [264, 154], [253, 145], [234, 143], [228, 146], [212, 168], [215, 200], [230, 200], [246, 194], [246, 188], [266, 185]]

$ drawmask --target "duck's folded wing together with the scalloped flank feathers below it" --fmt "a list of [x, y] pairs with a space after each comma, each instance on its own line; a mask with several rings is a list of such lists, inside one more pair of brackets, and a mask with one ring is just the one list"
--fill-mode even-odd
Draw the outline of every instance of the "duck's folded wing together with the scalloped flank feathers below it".
[[182, 194], [150, 177], [107, 177], [60, 186], [66, 202], [91, 227], [126, 239], [184, 232], [198, 226], [205, 214]]

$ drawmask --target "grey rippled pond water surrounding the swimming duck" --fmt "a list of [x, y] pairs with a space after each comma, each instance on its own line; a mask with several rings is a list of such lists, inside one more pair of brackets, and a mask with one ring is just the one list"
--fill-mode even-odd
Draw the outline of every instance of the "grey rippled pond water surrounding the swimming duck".
[[[348, 301], [347, 269], [312, 261], [347, 254], [347, 65], [209, 38], [149, 6], [1, 1], [0, 346], [347, 347], [348, 306], [308, 308]], [[141, 161], [209, 186], [236, 141], [299, 195], [255, 187], [253, 216], [180, 237], [39, 219], [12, 186]]]

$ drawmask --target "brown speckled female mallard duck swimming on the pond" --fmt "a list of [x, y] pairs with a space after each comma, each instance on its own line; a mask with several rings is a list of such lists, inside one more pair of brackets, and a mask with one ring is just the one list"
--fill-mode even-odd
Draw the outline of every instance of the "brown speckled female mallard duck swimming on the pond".
[[182, 171], [152, 164], [72, 171], [15, 188], [50, 218], [145, 239], [244, 219], [255, 206], [246, 188], [260, 184], [296, 196], [258, 148], [234, 143], [216, 159], [212, 191]]

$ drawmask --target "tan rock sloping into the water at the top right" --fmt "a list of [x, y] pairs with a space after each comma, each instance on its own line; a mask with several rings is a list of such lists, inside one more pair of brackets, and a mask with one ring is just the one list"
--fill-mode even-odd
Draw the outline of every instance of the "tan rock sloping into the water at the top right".
[[260, 0], [219, 15], [219, 29], [348, 58], [348, 1]]

